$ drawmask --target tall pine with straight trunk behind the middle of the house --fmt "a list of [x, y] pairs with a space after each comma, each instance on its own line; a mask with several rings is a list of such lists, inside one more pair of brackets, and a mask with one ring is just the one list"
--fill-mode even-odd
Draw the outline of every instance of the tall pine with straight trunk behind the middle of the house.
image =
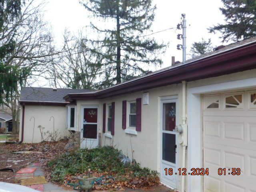
[[81, 4], [109, 26], [91, 23], [92, 29], [104, 37], [97, 42], [104, 46], [99, 54], [106, 61], [106, 85], [144, 74], [150, 64], [162, 64], [156, 52], [161, 52], [165, 45], [154, 38], [139, 38], [154, 21], [156, 6], [152, 6], [152, 0], [84, 0]]

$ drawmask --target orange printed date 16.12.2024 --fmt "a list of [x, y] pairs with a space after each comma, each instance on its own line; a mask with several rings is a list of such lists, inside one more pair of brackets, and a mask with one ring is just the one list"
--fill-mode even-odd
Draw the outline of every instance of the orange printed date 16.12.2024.
[[[165, 168], [165, 175], [187, 175], [186, 168], [178, 168], [178, 173], [174, 173], [172, 168]], [[192, 168], [188, 175], [209, 175], [209, 168]]]

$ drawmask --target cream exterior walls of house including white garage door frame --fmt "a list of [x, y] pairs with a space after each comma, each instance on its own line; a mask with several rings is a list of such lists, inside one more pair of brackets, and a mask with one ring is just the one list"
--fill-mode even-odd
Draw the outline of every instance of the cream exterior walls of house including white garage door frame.
[[[229, 90], [243, 90], [245, 88], [256, 89], [256, 70], [248, 70], [234, 74], [218, 76], [196, 80], [187, 83], [187, 111], [188, 111], [188, 150], [186, 153], [186, 168], [190, 172], [192, 167], [201, 168], [202, 164], [202, 110], [201, 110], [201, 94], [210, 92], [223, 92]], [[238, 84], [239, 81], [243, 83]], [[252, 82], [253, 80], [253, 82]], [[255, 82], [255, 83], [254, 83]], [[255, 85], [253, 85], [255, 84]], [[194, 92], [193, 92], [194, 91]], [[182, 123], [182, 84], [163, 86], [145, 90], [149, 92], [149, 104], [142, 104], [142, 131], [137, 132], [137, 135], [127, 134], [122, 129], [122, 101], [134, 101], [136, 98], [142, 98], [143, 92], [136, 92], [107, 98], [103, 100], [77, 100], [76, 125], [77, 131], [81, 131], [81, 106], [99, 106], [99, 132], [102, 133], [102, 108], [103, 103], [111, 104], [115, 102], [115, 135], [112, 138], [102, 135], [102, 145], [113, 145], [122, 150], [129, 158], [133, 158], [143, 167], [148, 167], [152, 170], [160, 170], [160, 124], [161, 124], [161, 97], [178, 96], [178, 116], [177, 124]], [[106, 108], [107, 110], [107, 108]], [[20, 110], [20, 132], [22, 126], [22, 107]], [[25, 106], [25, 122], [24, 122], [24, 142], [32, 142], [32, 127], [33, 120], [31, 116], [35, 116], [35, 135], [37, 142], [40, 142], [40, 132], [37, 126], [41, 124], [52, 130], [52, 121], [50, 116], [55, 117], [55, 128], [65, 130], [66, 123], [66, 108], [59, 106]], [[128, 114], [127, 114], [128, 118]], [[58, 123], [57, 123], [58, 122]], [[58, 124], [58, 125], [57, 125]], [[38, 131], [36, 133], [36, 130]], [[106, 117], [107, 130], [107, 117]], [[63, 136], [63, 135], [62, 135]], [[21, 137], [21, 134], [20, 134]], [[182, 146], [178, 144], [178, 168], [182, 168]], [[178, 179], [178, 189], [180, 189], [181, 176]], [[186, 191], [202, 191], [203, 180], [201, 176], [186, 176]]]

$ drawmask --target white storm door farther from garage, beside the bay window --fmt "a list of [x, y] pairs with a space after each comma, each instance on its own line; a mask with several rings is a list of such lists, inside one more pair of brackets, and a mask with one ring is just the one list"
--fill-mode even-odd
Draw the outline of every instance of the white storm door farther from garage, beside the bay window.
[[98, 107], [82, 107], [81, 148], [98, 146]]

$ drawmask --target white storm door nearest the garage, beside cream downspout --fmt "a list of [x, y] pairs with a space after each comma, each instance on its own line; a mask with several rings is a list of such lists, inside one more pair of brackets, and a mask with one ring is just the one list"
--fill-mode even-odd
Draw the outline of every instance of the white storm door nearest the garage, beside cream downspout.
[[[161, 126], [161, 170], [160, 179], [164, 184], [177, 188], [177, 141], [175, 132], [177, 100], [162, 100], [162, 126]], [[169, 174], [172, 168], [173, 174]]]

